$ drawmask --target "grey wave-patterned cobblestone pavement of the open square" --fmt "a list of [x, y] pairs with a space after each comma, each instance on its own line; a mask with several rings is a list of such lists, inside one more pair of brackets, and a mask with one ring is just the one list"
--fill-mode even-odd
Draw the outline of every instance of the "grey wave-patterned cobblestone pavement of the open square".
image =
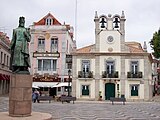
[[[8, 98], [0, 97], [0, 112], [8, 111]], [[32, 111], [50, 113], [53, 120], [160, 120], [160, 102], [115, 103], [76, 101], [75, 104], [43, 101]]]

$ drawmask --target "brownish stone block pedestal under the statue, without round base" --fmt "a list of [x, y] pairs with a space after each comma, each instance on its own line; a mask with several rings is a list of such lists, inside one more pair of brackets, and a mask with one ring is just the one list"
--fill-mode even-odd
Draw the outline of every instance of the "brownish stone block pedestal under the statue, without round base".
[[13, 74], [9, 92], [9, 116], [27, 117], [32, 112], [32, 76]]

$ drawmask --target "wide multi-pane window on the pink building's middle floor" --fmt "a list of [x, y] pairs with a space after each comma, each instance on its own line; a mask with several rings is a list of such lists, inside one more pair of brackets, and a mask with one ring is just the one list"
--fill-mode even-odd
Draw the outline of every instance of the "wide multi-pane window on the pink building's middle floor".
[[53, 59], [39, 59], [38, 60], [38, 71], [56, 71], [57, 60]]

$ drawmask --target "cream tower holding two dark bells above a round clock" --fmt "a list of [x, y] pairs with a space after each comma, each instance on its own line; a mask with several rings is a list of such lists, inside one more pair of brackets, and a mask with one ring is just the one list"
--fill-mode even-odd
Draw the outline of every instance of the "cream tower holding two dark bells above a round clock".
[[96, 52], [122, 52], [125, 42], [125, 15], [98, 16], [95, 12]]

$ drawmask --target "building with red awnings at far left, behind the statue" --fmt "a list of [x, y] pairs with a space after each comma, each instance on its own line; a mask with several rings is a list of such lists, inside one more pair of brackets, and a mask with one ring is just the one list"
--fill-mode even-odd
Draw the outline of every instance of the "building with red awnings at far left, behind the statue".
[[9, 93], [11, 71], [10, 66], [10, 40], [9, 37], [0, 32], [0, 95]]

